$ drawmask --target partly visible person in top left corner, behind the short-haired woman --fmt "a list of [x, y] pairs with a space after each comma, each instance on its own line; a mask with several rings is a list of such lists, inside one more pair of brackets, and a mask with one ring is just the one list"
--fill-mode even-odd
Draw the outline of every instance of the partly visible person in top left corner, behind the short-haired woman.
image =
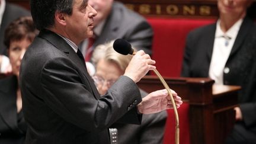
[[0, 0], [0, 73], [11, 73], [11, 65], [6, 56], [7, 47], [4, 45], [5, 28], [17, 18], [28, 15], [30, 12], [27, 9]]

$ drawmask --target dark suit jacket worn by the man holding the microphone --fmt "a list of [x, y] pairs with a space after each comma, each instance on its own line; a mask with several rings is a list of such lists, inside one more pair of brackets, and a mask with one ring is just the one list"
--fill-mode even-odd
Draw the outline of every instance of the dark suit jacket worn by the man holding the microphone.
[[[57, 34], [43, 30], [28, 47], [20, 70], [25, 143], [110, 143], [107, 127], [139, 124], [142, 101], [132, 79], [121, 76], [100, 97], [84, 60]], [[123, 117], [122, 117], [123, 116]]]

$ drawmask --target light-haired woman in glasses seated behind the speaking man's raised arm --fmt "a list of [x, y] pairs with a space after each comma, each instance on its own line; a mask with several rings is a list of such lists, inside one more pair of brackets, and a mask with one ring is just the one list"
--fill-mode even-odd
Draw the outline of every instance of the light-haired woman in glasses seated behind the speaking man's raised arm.
[[[131, 59], [131, 55], [124, 56], [114, 51], [113, 41], [95, 47], [92, 62], [96, 66], [96, 73], [93, 78], [101, 95], [104, 95], [108, 88], [124, 74]], [[147, 95], [142, 89], [140, 93], [142, 98]], [[166, 119], [167, 112], [162, 111], [143, 115], [141, 125], [114, 123], [111, 127], [118, 130], [118, 143], [160, 144], [164, 137]]]

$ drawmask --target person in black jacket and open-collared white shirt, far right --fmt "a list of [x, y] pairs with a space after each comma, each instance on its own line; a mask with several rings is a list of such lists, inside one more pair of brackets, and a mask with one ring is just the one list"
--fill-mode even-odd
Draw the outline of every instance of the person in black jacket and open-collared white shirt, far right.
[[256, 26], [246, 16], [251, 2], [218, 0], [217, 23], [191, 31], [186, 41], [181, 76], [242, 87], [236, 124], [226, 143], [256, 142]]

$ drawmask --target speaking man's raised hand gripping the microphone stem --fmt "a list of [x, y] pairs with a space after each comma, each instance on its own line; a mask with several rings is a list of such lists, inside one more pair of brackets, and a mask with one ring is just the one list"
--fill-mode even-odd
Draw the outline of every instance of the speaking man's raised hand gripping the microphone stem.
[[133, 56], [124, 75], [131, 78], [134, 82], [139, 82], [149, 70], [155, 69], [154, 64], [155, 60], [152, 60], [143, 50], [139, 50], [136, 55]]

